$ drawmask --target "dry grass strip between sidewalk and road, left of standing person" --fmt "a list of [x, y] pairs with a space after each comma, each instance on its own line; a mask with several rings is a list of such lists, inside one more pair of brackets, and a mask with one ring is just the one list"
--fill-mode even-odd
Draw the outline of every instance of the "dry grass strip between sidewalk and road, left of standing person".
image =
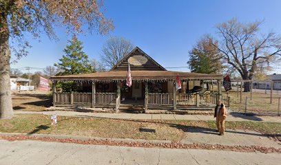
[[[139, 129], [143, 127], [156, 129], [156, 133], [141, 132]], [[58, 124], [50, 125], [50, 115], [39, 114], [21, 114], [15, 115], [11, 120], [0, 120], [0, 131], [174, 142], [184, 136], [183, 131], [157, 121], [58, 116]]]

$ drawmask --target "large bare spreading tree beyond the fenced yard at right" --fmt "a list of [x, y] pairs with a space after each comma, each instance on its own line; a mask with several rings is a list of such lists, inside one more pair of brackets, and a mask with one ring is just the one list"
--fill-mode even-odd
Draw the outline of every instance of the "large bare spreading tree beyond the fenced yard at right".
[[[261, 34], [261, 21], [240, 23], [231, 19], [217, 26], [222, 59], [239, 72], [243, 80], [252, 80], [258, 65], [280, 61], [281, 37], [273, 32]], [[249, 91], [244, 83], [244, 91]]]

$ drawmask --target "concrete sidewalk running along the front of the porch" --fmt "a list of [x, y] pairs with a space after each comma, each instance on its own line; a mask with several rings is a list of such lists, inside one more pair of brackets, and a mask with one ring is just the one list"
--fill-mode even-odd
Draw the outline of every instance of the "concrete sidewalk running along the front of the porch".
[[[213, 115], [176, 115], [176, 114], [146, 114], [146, 113], [89, 113], [76, 111], [14, 111], [14, 114], [44, 114], [74, 117], [96, 117], [131, 120], [215, 120]], [[242, 113], [230, 113], [227, 121], [260, 121], [281, 122], [280, 116], [248, 116]]]

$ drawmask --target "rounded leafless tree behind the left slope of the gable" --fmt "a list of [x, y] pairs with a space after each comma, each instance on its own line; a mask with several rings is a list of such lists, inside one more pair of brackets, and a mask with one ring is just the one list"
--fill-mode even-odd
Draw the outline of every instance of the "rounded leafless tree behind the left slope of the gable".
[[114, 67], [133, 49], [134, 45], [130, 41], [123, 37], [114, 36], [103, 45], [101, 61], [106, 67]]

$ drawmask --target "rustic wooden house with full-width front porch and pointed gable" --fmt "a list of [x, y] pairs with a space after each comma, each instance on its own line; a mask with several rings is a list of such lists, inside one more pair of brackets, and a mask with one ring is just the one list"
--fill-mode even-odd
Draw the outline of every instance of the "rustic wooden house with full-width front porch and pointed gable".
[[[132, 87], [125, 85], [130, 65]], [[176, 76], [183, 89], [176, 90]], [[197, 74], [167, 71], [139, 47], [134, 48], [109, 72], [53, 76], [54, 107], [141, 107], [142, 109], [204, 109], [213, 108], [222, 99], [221, 74]], [[59, 82], [76, 82], [74, 93], [56, 92]], [[211, 86], [210, 89], [205, 89]], [[216, 91], [214, 85], [217, 85]], [[209, 90], [209, 91], [207, 91]], [[229, 102], [229, 99], [223, 99]]]

